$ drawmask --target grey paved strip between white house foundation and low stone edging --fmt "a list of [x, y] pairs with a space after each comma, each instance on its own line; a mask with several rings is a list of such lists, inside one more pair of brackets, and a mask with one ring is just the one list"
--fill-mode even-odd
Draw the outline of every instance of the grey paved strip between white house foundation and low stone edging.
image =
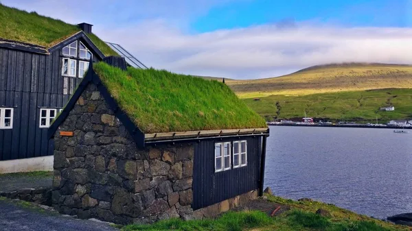
[[31, 173], [3, 174], [0, 175], [0, 182], [0, 192], [5, 193], [25, 188], [47, 189], [52, 187], [53, 175], [52, 172], [38, 175]]

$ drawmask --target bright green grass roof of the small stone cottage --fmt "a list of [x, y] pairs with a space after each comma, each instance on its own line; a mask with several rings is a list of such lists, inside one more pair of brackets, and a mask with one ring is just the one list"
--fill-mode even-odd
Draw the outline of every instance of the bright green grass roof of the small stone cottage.
[[93, 65], [109, 93], [142, 132], [266, 127], [228, 86], [155, 69]]

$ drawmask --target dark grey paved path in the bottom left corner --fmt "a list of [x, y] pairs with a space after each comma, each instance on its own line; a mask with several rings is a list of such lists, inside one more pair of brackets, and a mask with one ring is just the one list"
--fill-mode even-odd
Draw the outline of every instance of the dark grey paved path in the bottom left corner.
[[0, 230], [2, 231], [106, 231], [117, 230], [108, 223], [65, 217], [44, 210], [36, 204], [0, 197]]

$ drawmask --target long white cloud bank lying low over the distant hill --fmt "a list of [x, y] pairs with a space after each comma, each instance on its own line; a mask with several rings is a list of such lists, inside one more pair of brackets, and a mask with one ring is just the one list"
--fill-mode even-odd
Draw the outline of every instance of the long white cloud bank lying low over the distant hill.
[[332, 62], [412, 64], [411, 28], [301, 23], [185, 34], [150, 21], [98, 34], [124, 45], [148, 65], [194, 75], [256, 78]]

